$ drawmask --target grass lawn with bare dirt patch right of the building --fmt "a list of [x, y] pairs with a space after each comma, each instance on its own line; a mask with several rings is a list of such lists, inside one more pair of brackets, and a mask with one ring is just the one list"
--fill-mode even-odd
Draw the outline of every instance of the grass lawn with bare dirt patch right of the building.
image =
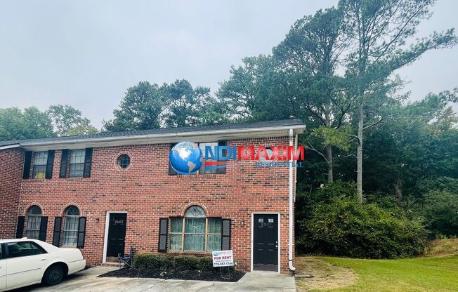
[[458, 254], [431, 256], [441, 253], [402, 260], [296, 257], [297, 274], [318, 276], [296, 277], [297, 291], [458, 291]]

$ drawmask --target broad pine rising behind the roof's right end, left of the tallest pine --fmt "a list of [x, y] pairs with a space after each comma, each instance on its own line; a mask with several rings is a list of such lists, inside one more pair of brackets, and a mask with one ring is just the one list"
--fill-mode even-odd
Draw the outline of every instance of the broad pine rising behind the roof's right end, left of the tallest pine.
[[311, 134], [306, 147], [326, 161], [329, 183], [334, 177], [332, 147], [348, 148], [344, 117], [351, 107], [334, 74], [348, 41], [342, 23], [336, 8], [297, 20], [273, 55], [244, 58], [218, 91], [233, 117], [306, 121]]

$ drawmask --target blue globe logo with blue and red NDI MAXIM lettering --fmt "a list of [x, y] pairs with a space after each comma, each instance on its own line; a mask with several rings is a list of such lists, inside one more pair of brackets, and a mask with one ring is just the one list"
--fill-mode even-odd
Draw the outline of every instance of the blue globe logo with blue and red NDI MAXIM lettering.
[[[174, 171], [179, 174], [195, 174], [204, 164], [206, 171], [225, 168], [228, 161], [258, 161], [255, 167], [299, 167], [299, 160], [304, 159], [304, 147], [298, 146], [210, 146], [205, 147], [205, 152], [193, 142], [179, 142], [169, 153], [169, 161]], [[259, 162], [262, 161], [262, 162]]]

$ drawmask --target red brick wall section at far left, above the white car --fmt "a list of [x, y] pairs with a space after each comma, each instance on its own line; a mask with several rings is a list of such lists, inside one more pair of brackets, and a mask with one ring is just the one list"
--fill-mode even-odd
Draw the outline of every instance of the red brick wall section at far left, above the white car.
[[24, 152], [18, 148], [0, 150], [0, 161], [0, 239], [14, 238]]

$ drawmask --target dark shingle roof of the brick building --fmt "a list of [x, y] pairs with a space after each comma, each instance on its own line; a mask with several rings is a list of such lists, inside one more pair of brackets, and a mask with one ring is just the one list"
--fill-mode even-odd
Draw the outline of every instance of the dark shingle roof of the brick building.
[[154, 128], [150, 130], [140, 131], [123, 131], [123, 132], [101, 132], [92, 135], [73, 135], [65, 137], [52, 137], [52, 138], [37, 138], [37, 139], [23, 139], [23, 140], [9, 140], [0, 141], [0, 147], [8, 145], [16, 145], [26, 142], [54, 142], [54, 141], [72, 141], [80, 139], [97, 139], [108, 137], [129, 137], [133, 135], [160, 135], [170, 133], [192, 133], [202, 131], [221, 131], [221, 130], [237, 130], [246, 128], [272, 128], [279, 126], [300, 126], [303, 122], [300, 119], [282, 119], [277, 121], [255, 121], [251, 123], [238, 123], [238, 124], [223, 124], [213, 126], [188, 126], [180, 128]]

